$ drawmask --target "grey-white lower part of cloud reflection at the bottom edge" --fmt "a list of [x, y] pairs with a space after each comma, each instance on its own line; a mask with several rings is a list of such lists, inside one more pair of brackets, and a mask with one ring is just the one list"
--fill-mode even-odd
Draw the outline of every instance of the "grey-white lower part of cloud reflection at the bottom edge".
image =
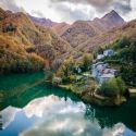
[[85, 121], [81, 113], [55, 114], [20, 136], [102, 136], [97, 123]]

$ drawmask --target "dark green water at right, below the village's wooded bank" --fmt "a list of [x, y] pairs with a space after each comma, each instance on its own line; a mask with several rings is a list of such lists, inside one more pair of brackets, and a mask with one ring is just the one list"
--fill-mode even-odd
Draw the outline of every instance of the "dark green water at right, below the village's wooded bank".
[[136, 132], [136, 99], [131, 99], [127, 103], [118, 108], [99, 108], [90, 104], [86, 106], [86, 118], [94, 121], [97, 119], [101, 128], [112, 127], [114, 124], [122, 122], [128, 128]]

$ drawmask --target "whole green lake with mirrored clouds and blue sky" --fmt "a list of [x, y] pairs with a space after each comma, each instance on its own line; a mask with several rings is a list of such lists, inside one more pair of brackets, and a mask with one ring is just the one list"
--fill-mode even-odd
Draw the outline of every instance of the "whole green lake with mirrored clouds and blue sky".
[[46, 76], [0, 76], [0, 136], [136, 136], [136, 98], [119, 108], [86, 104]]

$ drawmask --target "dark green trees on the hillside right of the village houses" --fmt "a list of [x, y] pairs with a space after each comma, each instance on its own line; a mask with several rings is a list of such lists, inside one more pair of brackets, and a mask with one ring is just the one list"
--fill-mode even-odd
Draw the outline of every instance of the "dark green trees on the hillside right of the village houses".
[[136, 38], [123, 37], [109, 46], [116, 53], [111, 58], [104, 58], [103, 61], [113, 65], [118, 64], [125, 84], [136, 86]]

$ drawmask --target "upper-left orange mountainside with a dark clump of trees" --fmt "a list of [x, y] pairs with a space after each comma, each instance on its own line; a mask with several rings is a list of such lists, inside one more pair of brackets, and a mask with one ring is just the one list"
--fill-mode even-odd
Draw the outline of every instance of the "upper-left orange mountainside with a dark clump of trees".
[[[3, 11], [4, 12], [4, 11]], [[7, 11], [5, 11], [7, 13]], [[29, 18], [23, 13], [10, 13], [0, 21], [0, 33], [16, 37], [22, 46], [33, 46], [36, 38], [37, 29]]]

